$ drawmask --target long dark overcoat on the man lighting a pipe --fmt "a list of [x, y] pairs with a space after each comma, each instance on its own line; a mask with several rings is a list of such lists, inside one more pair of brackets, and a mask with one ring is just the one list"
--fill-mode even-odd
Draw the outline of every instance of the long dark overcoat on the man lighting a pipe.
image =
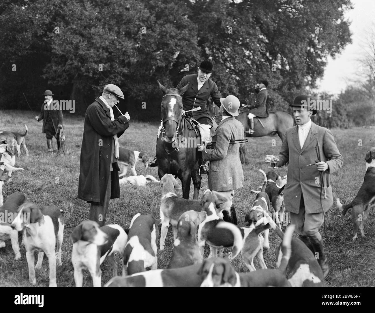
[[113, 135], [120, 137], [129, 123], [116, 111], [113, 110], [115, 120], [111, 121], [109, 108], [99, 98], [86, 110], [78, 198], [87, 202], [102, 204], [108, 182], [111, 183], [111, 199], [120, 197], [118, 171], [110, 170]]

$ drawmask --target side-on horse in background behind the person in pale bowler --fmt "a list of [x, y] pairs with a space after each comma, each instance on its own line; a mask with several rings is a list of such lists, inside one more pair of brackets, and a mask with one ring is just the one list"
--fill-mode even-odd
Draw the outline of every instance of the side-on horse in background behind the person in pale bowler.
[[[210, 115], [216, 120], [219, 119], [216, 105], [210, 103], [208, 108], [210, 110]], [[242, 123], [245, 131], [249, 130], [248, 114], [249, 110], [243, 108], [240, 109], [240, 114], [236, 116], [236, 119]], [[282, 140], [287, 129], [293, 125], [295, 125], [293, 116], [284, 111], [274, 111], [270, 112], [268, 117], [254, 117], [254, 134], [250, 135], [245, 133], [244, 137], [264, 137], [278, 134]], [[241, 163], [246, 163], [246, 144], [240, 148], [240, 159]]]

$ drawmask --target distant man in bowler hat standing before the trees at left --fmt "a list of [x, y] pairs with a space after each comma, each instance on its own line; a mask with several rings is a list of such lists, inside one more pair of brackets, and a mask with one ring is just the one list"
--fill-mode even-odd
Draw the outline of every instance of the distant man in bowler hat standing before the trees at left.
[[46, 134], [47, 138], [47, 151], [53, 152], [52, 138], [55, 137], [57, 141], [57, 149], [60, 148], [60, 129], [63, 128], [63, 112], [60, 106], [53, 105], [52, 96], [54, 94], [51, 90], [44, 92], [44, 102], [40, 113], [34, 118], [39, 122], [43, 120], [42, 133]]

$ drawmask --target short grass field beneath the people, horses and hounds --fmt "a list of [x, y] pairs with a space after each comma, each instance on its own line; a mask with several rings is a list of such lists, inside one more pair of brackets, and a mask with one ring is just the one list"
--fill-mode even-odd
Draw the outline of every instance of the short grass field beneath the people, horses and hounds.
[[[24, 171], [13, 172], [12, 179], [3, 186], [4, 201], [13, 192], [21, 191], [30, 202], [39, 207], [56, 205], [62, 208], [65, 219], [64, 241], [62, 248], [63, 265], [57, 268], [57, 285], [74, 287], [74, 270], [71, 263], [72, 241], [70, 234], [81, 221], [89, 219], [89, 204], [77, 199], [78, 177], [80, 172], [80, 150], [83, 134], [83, 117], [64, 114], [66, 135], [66, 154], [55, 157], [46, 152], [45, 134], [41, 133], [42, 122], [36, 122], [31, 111], [1, 111], [0, 129], [24, 132], [24, 125], [28, 126], [26, 145], [30, 156], [26, 156], [21, 147], [22, 155], [16, 158], [16, 166]], [[119, 138], [120, 146], [132, 150], [139, 150], [154, 156], [157, 123], [141, 123], [130, 121], [130, 127]], [[336, 143], [344, 157], [344, 166], [331, 176], [333, 197], [339, 197], [342, 203], [350, 202], [357, 194], [365, 174], [365, 153], [375, 146], [375, 134], [372, 129], [333, 129]], [[247, 143], [248, 164], [243, 166], [245, 186], [235, 194], [233, 203], [236, 207], [239, 224], [243, 224], [246, 212], [254, 200], [252, 189], [258, 189], [262, 177], [258, 169], [267, 172], [264, 163], [266, 154], [277, 154], [281, 147], [278, 137], [250, 138]], [[56, 141], [54, 140], [56, 149]], [[143, 164], [136, 165], [139, 175], [153, 175], [157, 178], [157, 170], [145, 169]], [[284, 176], [287, 168], [278, 169], [278, 174]], [[129, 170], [127, 176], [132, 175]], [[57, 183], [56, 183], [57, 182]], [[159, 218], [160, 187], [158, 185], [134, 187], [121, 185], [121, 197], [110, 201], [107, 223], [117, 223], [129, 227], [132, 217], [141, 214], [153, 214]], [[201, 193], [207, 188], [207, 177], [202, 178]], [[181, 190], [177, 190], [181, 196]], [[192, 190], [190, 191], [192, 197]], [[323, 227], [320, 232], [324, 238], [329, 265], [332, 271], [326, 286], [375, 286], [375, 222], [374, 214], [370, 212], [365, 226], [366, 236], [356, 241], [351, 240], [352, 223], [350, 213], [345, 219], [339, 218], [339, 209], [334, 205], [326, 215], [326, 234]], [[283, 227], [285, 230], [285, 226]], [[31, 286], [28, 281], [26, 251], [21, 246], [22, 258], [13, 260], [14, 253], [10, 241], [6, 247], [0, 249], [0, 286]], [[264, 251], [264, 260], [268, 268], [276, 267], [275, 252], [280, 239], [270, 231], [270, 250]], [[157, 240], [159, 247], [159, 239]], [[166, 268], [172, 256], [173, 236], [169, 227], [164, 251], [158, 251], [158, 268]], [[205, 253], [208, 252], [206, 247]], [[208, 253], [207, 253], [208, 254]], [[119, 274], [121, 275], [120, 258], [117, 257]], [[246, 272], [240, 256], [232, 261], [236, 271]], [[257, 261], [255, 266], [259, 268]], [[102, 284], [112, 277], [112, 269], [105, 261], [102, 264]], [[43, 268], [36, 272], [37, 286], [48, 286], [48, 260], [45, 257]], [[89, 272], [84, 272], [84, 286], [92, 286]]]

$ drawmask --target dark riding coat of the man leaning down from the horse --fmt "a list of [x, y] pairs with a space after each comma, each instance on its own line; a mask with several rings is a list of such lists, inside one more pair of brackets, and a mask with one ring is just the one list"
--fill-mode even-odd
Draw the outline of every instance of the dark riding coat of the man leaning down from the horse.
[[201, 107], [200, 110], [186, 113], [192, 115], [199, 123], [212, 125], [212, 119], [210, 116], [210, 111], [207, 107], [208, 97], [211, 96], [214, 104], [220, 107], [221, 94], [217, 89], [216, 84], [208, 78], [198, 90], [198, 74], [186, 75], [184, 76], [180, 83], [177, 85], [177, 89], [181, 89], [187, 83], [189, 87], [182, 96], [183, 109], [185, 111], [191, 110], [192, 108]]

